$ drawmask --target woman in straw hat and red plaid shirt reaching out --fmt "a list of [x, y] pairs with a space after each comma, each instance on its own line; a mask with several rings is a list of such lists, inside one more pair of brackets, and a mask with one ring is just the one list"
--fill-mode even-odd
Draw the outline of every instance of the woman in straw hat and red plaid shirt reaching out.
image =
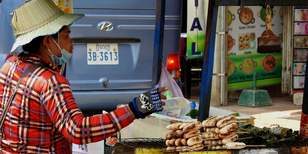
[[162, 111], [166, 97], [160, 92], [166, 87], [147, 91], [109, 114], [82, 115], [58, 68], [73, 53], [67, 25], [83, 16], [63, 13], [52, 0], [27, 0], [14, 9], [11, 24], [17, 37], [12, 51], [22, 45], [25, 52], [1, 69], [2, 153], [71, 153], [71, 142], [103, 140], [136, 118]]

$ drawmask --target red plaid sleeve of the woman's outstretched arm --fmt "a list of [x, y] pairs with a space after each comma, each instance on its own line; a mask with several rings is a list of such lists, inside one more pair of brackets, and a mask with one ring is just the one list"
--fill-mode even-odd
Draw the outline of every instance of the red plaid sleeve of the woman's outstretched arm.
[[54, 75], [44, 84], [41, 101], [56, 128], [75, 144], [103, 140], [133, 122], [127, 107], [109, 114], [84, 117], [65, 77]]

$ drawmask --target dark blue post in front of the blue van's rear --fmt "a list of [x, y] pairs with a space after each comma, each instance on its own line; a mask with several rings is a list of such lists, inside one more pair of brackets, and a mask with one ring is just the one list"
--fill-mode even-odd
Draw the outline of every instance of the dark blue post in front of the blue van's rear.
[[158, 83], [161, 73], [161, 63], [163, 58], [163, 43], [164, 43], [165, 6], [166, 6], [166, 0], [157, 0], [155, 35], [154, 35], [152, 88], [154, 88]]

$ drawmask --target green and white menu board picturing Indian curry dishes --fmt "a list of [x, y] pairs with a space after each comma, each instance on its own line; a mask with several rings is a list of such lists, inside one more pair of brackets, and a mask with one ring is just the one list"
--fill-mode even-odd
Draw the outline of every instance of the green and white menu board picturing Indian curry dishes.
[[[283, 28], [280, 8], [271, 9], [272, 30], [279, 36]], [[257, 53], [257, 38], [266, 30], [265, 9], [229, 6], [228, 25], [228, 89], [252, 87], [253, 71], [258, 72], [257, 86], [281, 83], [282, 52]]]

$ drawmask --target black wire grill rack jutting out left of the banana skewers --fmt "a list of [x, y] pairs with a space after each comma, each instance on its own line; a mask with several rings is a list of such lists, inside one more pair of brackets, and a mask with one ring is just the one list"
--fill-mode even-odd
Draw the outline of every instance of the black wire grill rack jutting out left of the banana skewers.
[[133, 148], [167, 148], [166, 139], [132, 138], [116, 139], [119, 143]]

